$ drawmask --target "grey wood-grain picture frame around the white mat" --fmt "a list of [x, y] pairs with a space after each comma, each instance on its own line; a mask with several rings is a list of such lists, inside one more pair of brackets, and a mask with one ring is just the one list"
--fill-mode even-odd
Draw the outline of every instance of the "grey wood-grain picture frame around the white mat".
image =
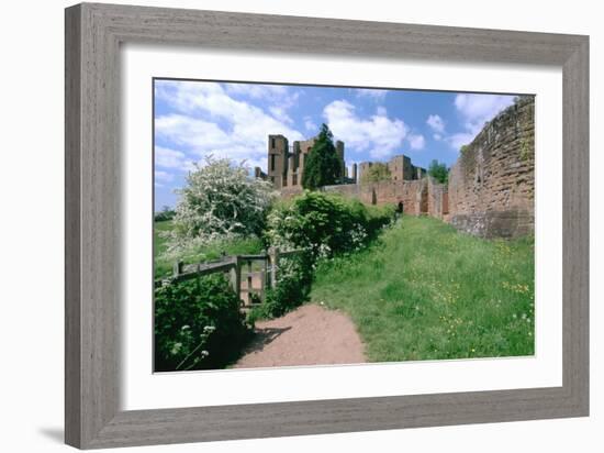
[[[82, 3], [65, 15], [65, 440], [80, 449], [589, 415], [589, 37]], [[560, 387], [120, 410], [120, 45], [539, 64], [563, 73]]]

